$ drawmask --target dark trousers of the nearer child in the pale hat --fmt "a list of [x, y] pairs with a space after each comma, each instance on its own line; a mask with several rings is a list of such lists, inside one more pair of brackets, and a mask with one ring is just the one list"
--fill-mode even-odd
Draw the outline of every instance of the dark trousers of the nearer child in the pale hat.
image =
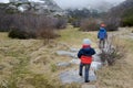
[[89, 69], [90, 69], [90, 65], [91, 64], [80, 64], [80, 72], [79, 74], [82, 75], [82, 72], [83, 72], [83, 67], [85, 66], [85, 69], [84, 69], [84, 80], [89, 80]]

